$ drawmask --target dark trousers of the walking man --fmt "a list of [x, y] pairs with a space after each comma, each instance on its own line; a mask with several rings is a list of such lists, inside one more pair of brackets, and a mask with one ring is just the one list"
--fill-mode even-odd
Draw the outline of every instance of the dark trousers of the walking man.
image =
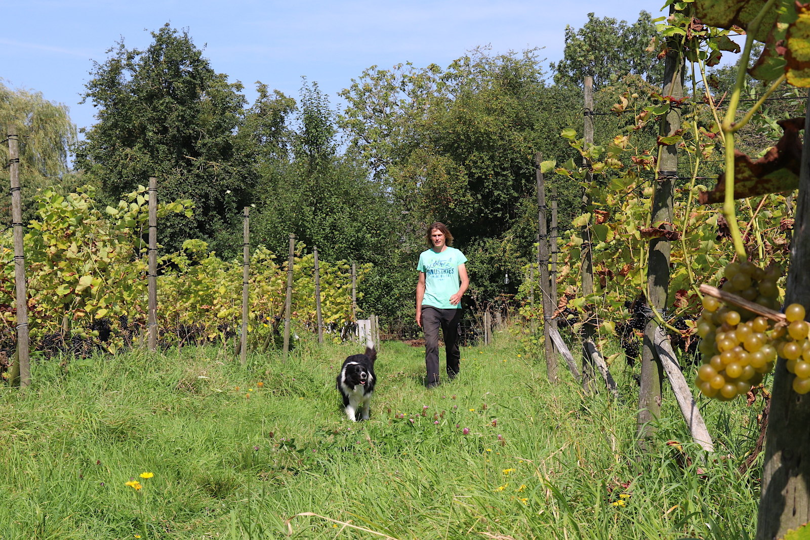
[[424, 367], [427, 376], [425, 386], [439, 384], [439, 328], [445, 338], [447, 352], [447, 376], [450, 379], [458, 375], [458, 322], [461, 321], [461, 309], [439, 309], [433, 306], [422, 307], [422, 328], [424, 329]]

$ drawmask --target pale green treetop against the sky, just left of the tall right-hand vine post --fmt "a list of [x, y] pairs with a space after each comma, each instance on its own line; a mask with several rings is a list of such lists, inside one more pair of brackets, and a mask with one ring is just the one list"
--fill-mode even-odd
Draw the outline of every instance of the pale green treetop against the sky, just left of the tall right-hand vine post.
[[552, 62], [554, 81], [582, 87], [586, 75], [600, 88], [625, 74], [638, 74], [660, 85], [663, 65], [655, 62], [650, 44], [657, 35], [649, 13], [641, 11], [633, 24], [612, 17], [588, 14], [582, 28], [565, 27], [565, 51], [560, 62]]

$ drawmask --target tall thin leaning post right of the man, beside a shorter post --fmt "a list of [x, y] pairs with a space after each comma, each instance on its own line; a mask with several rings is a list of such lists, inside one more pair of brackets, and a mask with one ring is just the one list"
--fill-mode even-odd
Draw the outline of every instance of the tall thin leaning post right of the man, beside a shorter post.
[[[543, 155], [539, 152], [535, 154], [535, 176], [537, 177], [537, 267], [540, 273], [540, 305], [543, 310], [543, 335], [546, 356], [546, 376], [548, 381], [557, 381], [557, 355], [554, 350], [554, 343], [550, 334], [551, 321], [554, 314], [552, 304], [552, 281], [548, 275], [548, 227], [546, 222], [546, 189], [544, 185], [543, 171], [540, 170], [540, 163]], [[556, 288], [556, 283], [554, 286]]]

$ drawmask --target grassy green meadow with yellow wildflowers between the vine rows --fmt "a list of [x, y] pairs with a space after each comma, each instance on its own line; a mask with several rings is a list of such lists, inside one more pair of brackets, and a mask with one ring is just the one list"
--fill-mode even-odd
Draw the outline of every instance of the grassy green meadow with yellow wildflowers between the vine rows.
[[[186, 347], [40, 359], [0, 388], [0, 538], [752, 538], [761, 402], [701, 401], [701, 453], [671, 391], [647, 452], [637, 383], [585, 395], [508, 332], [424, 389], [424, 349], [384, 342], [371, 419], [335, 376], [356, 344]], [[442, 352], [443, 354], [443, 352]], [[687, 378], [693, 376], [688, 368]], [[680, 445], [667, 444], [676, 440]]]

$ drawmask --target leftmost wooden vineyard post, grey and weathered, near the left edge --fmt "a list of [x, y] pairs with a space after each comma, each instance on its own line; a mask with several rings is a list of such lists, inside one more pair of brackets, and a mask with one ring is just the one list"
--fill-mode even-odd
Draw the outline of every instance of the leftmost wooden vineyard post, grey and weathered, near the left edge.
[[[13, 129], [13, 128], [12, 128]], [[23, 247], [23, 198], [19, 185], [19, 135], [8, 134], [8, 165], [11, 176], [11, 226], [14, 227], [14, 288], [17, 321], [17, 347], [11, 384], [25, 388], [31, 384], [31, 364], [28, 342], [28, 290], [25, 282], [25, 250]]]

